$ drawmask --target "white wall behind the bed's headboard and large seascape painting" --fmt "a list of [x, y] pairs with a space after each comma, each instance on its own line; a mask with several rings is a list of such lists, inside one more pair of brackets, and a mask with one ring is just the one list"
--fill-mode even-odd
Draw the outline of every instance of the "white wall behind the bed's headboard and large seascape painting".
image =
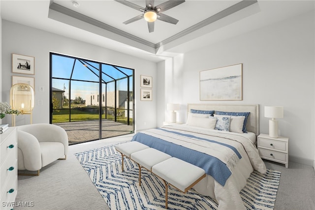
[[[313, 11], [173, 59], [173, 71], [180, 72], [171, 75], [165, 65], [165, 72], [171, 77], [165, 87], [173, 88], [165, 91], [164, 98], [182, 104], [179, 121], [186, 121], [188, 103], [259, 104], [260, 132], [267, 134], [269, 119], [264, 117], [264, 106], [283, 105], [284, 118], [279, 119], [279, 127], [280, 134], [289, 138], [290, 160], [313, 166], [314, 20]], [[243, 101], [199, 100], [199, 71], [240, 63]]]

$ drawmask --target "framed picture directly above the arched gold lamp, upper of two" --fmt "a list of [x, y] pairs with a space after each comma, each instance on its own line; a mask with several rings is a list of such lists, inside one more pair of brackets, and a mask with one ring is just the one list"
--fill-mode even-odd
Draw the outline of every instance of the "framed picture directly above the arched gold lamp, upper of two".
[[12, 53], [12, 72], [34, 74], [34, 57]]

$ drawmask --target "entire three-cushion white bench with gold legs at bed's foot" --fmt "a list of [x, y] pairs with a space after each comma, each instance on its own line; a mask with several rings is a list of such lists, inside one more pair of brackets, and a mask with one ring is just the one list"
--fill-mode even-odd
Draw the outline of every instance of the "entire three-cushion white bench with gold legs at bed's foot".
[[187, 193], [188, 190], [206, 176], [203, 169], [186, 161], [151, 148], [137, 141], [119, 144], [116, 150], [122, 154], [122, 170], [124, 171], [124, 156], [130, 158], [139, 167], [139, 185], [141, 186], [141, 168], [157, 175], [165, 184], [165, 209], [167, 209], [168, 186]]

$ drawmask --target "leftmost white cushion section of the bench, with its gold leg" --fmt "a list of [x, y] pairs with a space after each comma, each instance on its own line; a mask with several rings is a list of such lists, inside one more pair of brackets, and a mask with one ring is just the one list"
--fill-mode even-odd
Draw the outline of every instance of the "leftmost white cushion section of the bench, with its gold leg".
[[130, 155], [134, 152], [138, 152], [143, 149], [150, 148], [149, 146], [137, 142], [130, 141], [126, 143], [122, 143], [116, 146], [116, 150], [122, 154], [122, 171], [124, 171], [124, 156], [130, 158]]

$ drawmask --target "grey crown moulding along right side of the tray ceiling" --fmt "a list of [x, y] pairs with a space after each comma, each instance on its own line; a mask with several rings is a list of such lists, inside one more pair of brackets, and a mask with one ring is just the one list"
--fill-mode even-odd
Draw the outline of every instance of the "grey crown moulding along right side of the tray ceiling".
[[231, 14], [233, 14], [233, 13], [235, 13], [241, 9], [244, 9], [244, 8], [254, 4], [256, 2], [257, 2], [257, 0], [242, 0], [242, 1], [222, 10], [221, 12], [218, 12], [217, 14], [215, 14], [215, 15], [213, 15], [213, 16], [211, 16], [211, 17], [209, 17], [203, 21], [201, 21], [201, 22], [199, 22], [193, 26], [190, 26], [189, 28], [177, 33], [176, 35], [172, 35], [172, 36], [164, 39], [163, 41], [156, 44], [157, 45], [156, 48], [159, 48], [162, 45], [165, 45], [165, 44], [172, 42], [178, 38], [181, 38], [185, 35], [188, 35], [188, 34], [194, 32], [198, 29], [201, 29], [202, 27], [205, 27], [211, 23], [214, 23], [214, 22], [216, 22], [216, 21], [218, 21], [218, 20], [220, 20], [220, 19], [222, 19], [228, 15], [231, 15]]

